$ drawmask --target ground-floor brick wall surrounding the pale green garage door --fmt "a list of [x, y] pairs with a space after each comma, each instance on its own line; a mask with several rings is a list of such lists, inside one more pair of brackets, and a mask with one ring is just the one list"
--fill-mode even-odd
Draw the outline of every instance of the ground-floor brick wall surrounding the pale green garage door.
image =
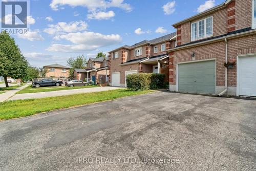
[[[196, 60], [216, 58], [216, 84], [217, 86], [225, 86], [225, 42], [215, 42], [213, 44], [204, 45], [195, 48], [183, 49], [175, 51], [170, 56], [170, 62], [173, 62], [173, 68], [169, 69], [169, 82], [172, 85], [176, 84], [176, 67], [178, 62], [192, 61], [191, 54], [195, 52]], [[228, 58], [237, 58], [237, 55], [256, 53], [256, 35], [245, 36], [228, 40]], [[237, 69], [228, 69], [228, 86], [237, 86]]]

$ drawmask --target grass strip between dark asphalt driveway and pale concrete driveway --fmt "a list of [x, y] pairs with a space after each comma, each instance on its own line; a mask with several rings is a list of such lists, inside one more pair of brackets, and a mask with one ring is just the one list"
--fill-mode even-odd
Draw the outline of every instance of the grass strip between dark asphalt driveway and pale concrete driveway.
[[0, 120], [25, 117], [41, 112], [48, 112], [56, 109], [65, 109], [71, 106], [90, 104], [106, 100], [114, 100], [120, 97], [146, 94], [150, 92], [153, 91], [130, 91], [126, 89], [118, 89], [112, 91], [84, 93], [61, 97], [6, 101], [2, 103], [0, 102]]

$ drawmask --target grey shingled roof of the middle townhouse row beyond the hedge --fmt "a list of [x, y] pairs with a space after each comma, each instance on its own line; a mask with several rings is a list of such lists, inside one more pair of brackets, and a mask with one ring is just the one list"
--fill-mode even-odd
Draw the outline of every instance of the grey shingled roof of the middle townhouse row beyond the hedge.
[[124, 46], [122, 46], [122, 47], [119, 47], [119, 48], [117, 48], [117, 49], [115, 49], [115, 50], [110, 51], [109, 53], [111, 53], [111, 52], [113, 52], [113, 51], [117, 51], [117, 50], [122, 49], [122, 48], [123, 48], [123, 49], [129, 49], [129, 50], [131, 50], [131, 49], [134, 49], [134, 48], [139, 47], [139, 46], [142, 46], [142, 45], [149, 45], [149, 44], [156, 45], [156, 44], [159, 44], [160, 42], [164, 42], [164, 41], [170, 40], [170, 39], [172, 39], [172, 38], [175, 37], [175, 36], [176, 36], [176, 32], [170, 33], [170, 34], [167, 34], [167, 35], [164, 35], [164, 36], [161, 36], [161, 37], [157, 37], [157, 38], [152, 39], [152, 40], [143, 40], [143, 41], [140, 41], [140, 42], [138, 42], [137, 44], [134, 44], [134, 45], [132, 45], [132, 46], [124, 45]]

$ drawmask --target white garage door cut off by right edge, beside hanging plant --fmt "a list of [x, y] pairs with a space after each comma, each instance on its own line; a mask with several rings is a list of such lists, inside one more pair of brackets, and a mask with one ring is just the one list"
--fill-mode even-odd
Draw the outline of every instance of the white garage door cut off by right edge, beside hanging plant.
[[256, 56], [238, 61], [238, 95], [256, 96]]

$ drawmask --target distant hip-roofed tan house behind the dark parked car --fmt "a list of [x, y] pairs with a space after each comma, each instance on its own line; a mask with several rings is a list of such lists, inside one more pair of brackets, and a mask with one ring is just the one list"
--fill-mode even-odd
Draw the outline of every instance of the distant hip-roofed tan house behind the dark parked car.
[[46, 74], [46, 77], [52, 77], [52, 78], [69, 78], [69, 71], [70, 67], [59, 65], [58, 63], [44, 66], [44, 69], [47, 69], [48, 72]]

